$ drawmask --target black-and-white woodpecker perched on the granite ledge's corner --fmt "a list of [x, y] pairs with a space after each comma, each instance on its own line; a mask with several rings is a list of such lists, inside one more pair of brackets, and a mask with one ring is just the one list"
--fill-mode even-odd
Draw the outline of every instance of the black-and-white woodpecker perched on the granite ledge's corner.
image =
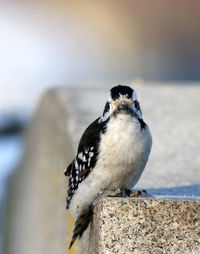
[[112, 87], [103, 114], [86, 128], [77, 155], [64, 172], [68, 176], [66, 208], [75, 217], [69, 249], [87, 229], [93, 202], [100, 194], [131, 193], [151, 147], [152, 135], [136, 91], [127, 85]]

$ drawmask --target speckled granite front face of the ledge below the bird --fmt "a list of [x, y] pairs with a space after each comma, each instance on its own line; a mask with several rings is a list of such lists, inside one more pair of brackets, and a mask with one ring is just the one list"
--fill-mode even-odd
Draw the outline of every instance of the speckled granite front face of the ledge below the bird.
[[200, 253], [200, 200], [105, 198], [97, 202], [90, 254]]

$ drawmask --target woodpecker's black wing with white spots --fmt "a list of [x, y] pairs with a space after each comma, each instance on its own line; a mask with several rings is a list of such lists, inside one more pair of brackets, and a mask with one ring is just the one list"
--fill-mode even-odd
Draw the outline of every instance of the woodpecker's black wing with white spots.
[[70, 207], [71, 199], [78, 189], [79, 184], [84, 181], [96, 165], [99, 154], [100, 136], [105, 132], [107, 122], [99, 121], [99, 119], [91, 123], [83, 133], [77, 155], [65, 171], [65, 175], [69, 176], [67, 209]]

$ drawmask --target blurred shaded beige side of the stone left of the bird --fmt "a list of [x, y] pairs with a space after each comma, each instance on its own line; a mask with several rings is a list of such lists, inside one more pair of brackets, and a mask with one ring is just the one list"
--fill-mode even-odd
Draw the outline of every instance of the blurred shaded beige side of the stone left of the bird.
[[[62, 90], [67, 100], [66, 89]], [[73, 157], [67, 107], [58, 90], [41, 98], [25, 135], [26, 148], [10, 179], [5, 254], [68, 253], [72, 221], [65, 209], [64, 169]], [[75, 248], [70, 253], [78, 253]]]

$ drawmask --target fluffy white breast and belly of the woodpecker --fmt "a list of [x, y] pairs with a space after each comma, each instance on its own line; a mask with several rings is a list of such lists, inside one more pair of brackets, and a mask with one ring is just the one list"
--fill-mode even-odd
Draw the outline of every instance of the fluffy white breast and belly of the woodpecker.
[[148, 126], [127, 114], [112, 118], [101, 137], [97, 167], [108, 188], [116, 189], [136, 184], [151, 149]]

